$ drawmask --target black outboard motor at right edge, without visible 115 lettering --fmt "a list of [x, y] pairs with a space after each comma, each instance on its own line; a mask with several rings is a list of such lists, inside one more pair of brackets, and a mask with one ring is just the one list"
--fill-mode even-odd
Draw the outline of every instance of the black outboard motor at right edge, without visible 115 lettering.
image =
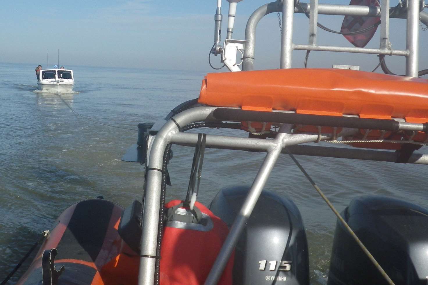
[[[363, 196], [352, 200], [341, 215], [396, 285], [427, 284], [427, 209], [383, 196]], [[327, 284], [388, 284], [339, 221]]]

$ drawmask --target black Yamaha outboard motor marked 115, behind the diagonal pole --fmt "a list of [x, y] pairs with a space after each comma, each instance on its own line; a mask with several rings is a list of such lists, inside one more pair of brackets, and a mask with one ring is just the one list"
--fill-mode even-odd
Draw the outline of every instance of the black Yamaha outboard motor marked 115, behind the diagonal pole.
[[[210, 210], [232, 226], [248, 190], [220, 190]], [[262, 192], [235, 247], [233, 284], [309, 284], [306, 233], [290, 199]]]

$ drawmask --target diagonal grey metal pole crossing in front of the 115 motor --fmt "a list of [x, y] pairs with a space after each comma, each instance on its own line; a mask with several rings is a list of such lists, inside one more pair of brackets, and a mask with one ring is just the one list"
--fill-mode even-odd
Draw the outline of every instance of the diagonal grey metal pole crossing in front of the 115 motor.
[[289, 134], [285, 133], [289, 132], [290, 130], [290, 125], [282, 125], [281, 128], [279, 128], [280, 133], [276, 136], [275, 139], [276, 145], [268, 151], [268, 154], [266, 155], [265, 160], [263, 161], [262, 166], [260, 167], [260, 170], [254, 179], [253, 185], [247, 194], [247, 198], [245, 199], [238, 216], [233, 222], [229, 235], [224, 241], [213, 267], [211, 267], [211, 271], [205, 280], [205, 285], [216, 285], [220, 279], [224, 267], [226, 266], [227, 261], [229, 260], [230, 255], [232, 254], [233, 249], [235, 248], [235, 245], [244, 230], [244, 227], [247, 225], [247, 221], [250, 218], [251, 212], [253, 211], [254, 206], [256, 206], [256, 202], [262, 193], [263, 187], [265, 187], [266, 181], [269, 178], [269, 174], [272, 171], [279, 154], [281, 154], [282, 148], [284, 148], [285, 138], [289, 136]]

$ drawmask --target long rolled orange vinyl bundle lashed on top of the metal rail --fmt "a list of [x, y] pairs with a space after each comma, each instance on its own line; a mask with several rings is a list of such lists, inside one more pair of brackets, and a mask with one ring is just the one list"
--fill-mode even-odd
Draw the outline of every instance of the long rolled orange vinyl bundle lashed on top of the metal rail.
[[[209, 73], [202, 80], [198, 102], [243, 110], [346, 114], [425, 123], [428, 122], [428, 80], [331, 68]], [[300, 127], [300, 130], [308, 129], [316, 130]], [[379, 138], [375, 133], [372, 131], [366, 138]], [[413, 140], [425, 139], [424, 133], [413, 137]], [[367, 147], [367, 144], [361, 146]]]

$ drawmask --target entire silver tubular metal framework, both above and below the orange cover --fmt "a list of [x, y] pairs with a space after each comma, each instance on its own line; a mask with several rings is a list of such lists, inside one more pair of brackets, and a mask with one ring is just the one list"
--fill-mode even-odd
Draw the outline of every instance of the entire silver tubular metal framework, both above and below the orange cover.
[[[284, 2], [285, 1], [285, 2]], [[380, 11], [379, 7], [374, 6], [353, 6], [353, 5], [331, 5], [318, 4], [318, 0], [310, 0], [311, 3], [301, 3], [300, 7], [294, 7], [294, 0], [276, 0], [275, 2], [265, 4], [257, 9], [247, 22], [245, 30], [245, 39], [249, 41], [245, 44], [243, 70], [254, 69], [254, 47], [256, 26], [259, 21], [267, 14], [272, 12], [282, 12], [282, 23], [284, 24], [281, 36], [281, 68], [291, 68], [291, 54], [293, 50], [326, 50], [357, 53], [377, 53], [406, 56], [406, 75], [411, 77], [418, 76], [418, 24], [419, 16], [422, 22], [428, 23], [428, 14], [419, 13], [419, 0], [408, 0], [409, 8], [407, 10], [407, 46], [406, 50], [392, 50], [389, 45], [389, 9]], [[389, 7], [389, 0], [382, 0], [383, 7]], [[302, 10], [304, 9], [304, 11]], [[310, 13], [309, 45], [294, 45], [292, 42], [293, 16], [294, 13]], [[353, 48], [353, 47], [330, 47], [316, 45], [317, 34], [317, 16], [324, 15], [354, 15], [371, 16], [382, 18], [381, 39], [379, 49]], [[402, 16], [396, 15], [394, 18]], [[150, 145], [150, 152], [146, 167], [146, 196], [144, 200], [143, 211], [143, 233], [141, 236], [140, 249], [140, 271], [138, 277], [139, 285], [152, 285], [155, 281], [155, 258], [157, 246], [157, 232], [159, 226], [159, 207], [161, 196], [161, 182], [163, 154], [166, 145], [169, 143], [181, 145], [195, 145], [197, 141], [196, 134], [180, 133], [179, 128], [193, 122], [215, 121], [212, 113], [216, 107], [195, 107], [181, 112], [168, 120], [160, 128], [156, 136], [150, 138], [153, 142]], [[401, 123], [403, 129], [418, 129], [421, 124]], [[348, 129], [352, 132], [354, 129]], [[299, 145], [301, 143], [313, 142], [326, 139], [327, 135], [318, 134], [290, 134], [291, 125], [283, 124], [279, 134], [274, 140], [260, 140], [244, 137], [226, 137], [208, 135], [206, 138], [207, 147], [224, 148], [235, 150], [256, 150], [265, 151], [267, 155], [262, 163], [259, 172], [253, 181], [253, 185], [247, 198], [236, 218], [229, 235], [226, 238], [223, 247], [217, 256], [214, 266], [205, 282], [207, 285], [216, 284], [220, 278], [223, 268], [229, 259], [232, 250], [244, 229], [248, 218], [257, 202], [260, 193], [269, 177], [273, 166], [279, 155], [284, 153], [285, 146], [291, 146], [290, 149], [295, 154], [316, 155], [321, 157], [340, 157], [354, 158], [363, 160], [377, 161], [396, 161], [397, 154], [391, 151], [369, 151], [347, 148], [314, 147]], [[152, 140], [153, 139], [153, 140]], [[427, 154], [412, 154], [409, 163], [428, 164]]]

